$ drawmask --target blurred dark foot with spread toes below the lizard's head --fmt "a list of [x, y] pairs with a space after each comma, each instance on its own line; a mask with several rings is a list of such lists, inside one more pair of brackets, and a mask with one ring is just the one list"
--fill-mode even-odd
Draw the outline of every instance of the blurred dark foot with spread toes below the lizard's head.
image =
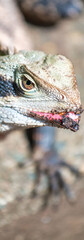
[[[54, 205], [57, 205], [61, 192], [64, 192], [70, 203], [74, 203], [76, 201], [76, 194], [64, 179], [62, 168], [68, 168], [76, 177], [81, 176], [81, 174], [79, 170], [72, 165], [67, 164], [64, 160], [59, 160], [55, 152], [53, 155], [54, 156], [51, 157], [51, 153], [48, 153], [42, 161], [36, 162], [38, 176], [35, 190], [36, 194], [43, 196], [45, 205], [48, 204], [51, 198], [52, 204], [54, 199]], [[54, 158], [55, 162], [52, 161], [52, 158]], [[54, 162], [54, 166], [52, 162]]]

